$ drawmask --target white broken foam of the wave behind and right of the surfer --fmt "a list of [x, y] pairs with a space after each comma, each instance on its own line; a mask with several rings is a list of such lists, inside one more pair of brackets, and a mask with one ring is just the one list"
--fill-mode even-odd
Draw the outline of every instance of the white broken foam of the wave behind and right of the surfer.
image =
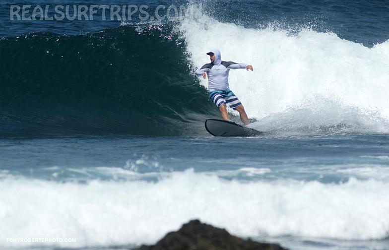
[[259, 125], [272, 130], [278, 120], [286, 127], [346, 124], [352, 132], [389, 131], [389, 41], [367, 48], [330, 32], [303, 29], [291, 36], [272, 27], [221, 23], [194, 9], [177, 27], [189, 60], [200, 67], [209, 62], [205, 53], [219, 48], [222, 60], [252, 64], [253, 72], [230, 71], [230, 87], [249, 117], [270, 116]]

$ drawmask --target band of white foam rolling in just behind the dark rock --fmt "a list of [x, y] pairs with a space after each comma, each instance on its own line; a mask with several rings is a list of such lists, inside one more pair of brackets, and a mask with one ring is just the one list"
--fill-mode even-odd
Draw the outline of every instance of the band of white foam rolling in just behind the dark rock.
[[[227, 181], [193, 171], [158, 182], [0, 181], [0, 248], [6, 238], [76, 238], [60, 247], [152, 244], [190, 219], [243, 237], [382, 239], [389, 184]], [[50, 243], [44, 244], [50, 246]]]

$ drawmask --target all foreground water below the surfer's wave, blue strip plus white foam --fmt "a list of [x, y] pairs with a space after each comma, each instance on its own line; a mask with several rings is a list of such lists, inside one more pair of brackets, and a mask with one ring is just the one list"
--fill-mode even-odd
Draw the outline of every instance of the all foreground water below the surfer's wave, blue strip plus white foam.
[[71, 238], [76, 243], [62, 246], [81, 249], [136, 246], [199, 218], [290, 249], [385, 250], [388, 141], [383, 134], [2, 139], [1, 235]]

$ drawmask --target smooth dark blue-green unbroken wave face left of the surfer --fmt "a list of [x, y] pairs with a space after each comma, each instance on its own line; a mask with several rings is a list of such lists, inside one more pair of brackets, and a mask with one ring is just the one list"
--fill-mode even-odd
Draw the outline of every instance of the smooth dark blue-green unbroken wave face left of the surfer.
[[196, 133], [215, 110], [169, 29], [0, 40], [1, 132]]

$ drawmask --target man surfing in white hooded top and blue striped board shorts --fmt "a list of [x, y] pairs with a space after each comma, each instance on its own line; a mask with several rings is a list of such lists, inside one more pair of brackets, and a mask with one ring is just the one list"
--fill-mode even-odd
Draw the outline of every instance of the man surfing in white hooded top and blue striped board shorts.
[[227, 107], [239, 112], [239, 116], [245, 125], [249, 124], [245, 108], [239, 101], [238, 97], [230, 90], [228, 84], [228, 73], [230, 69], [246, 68], [246, 70], [253, 71], [252, 65], [245, 63], [226, 62], [221, 61], [221, 55], [219, 50], [211, 50], [207, 53], [211, 62], [204, 64], [200, 69], [195, 71], [196, 75], [201, 75], [202, 78], [206, 78], [208, 75], [208, 91], [209, 98], [219, 108], [221, 117], [223, 120], [229, 121], [230, 118], [227, 114]]

